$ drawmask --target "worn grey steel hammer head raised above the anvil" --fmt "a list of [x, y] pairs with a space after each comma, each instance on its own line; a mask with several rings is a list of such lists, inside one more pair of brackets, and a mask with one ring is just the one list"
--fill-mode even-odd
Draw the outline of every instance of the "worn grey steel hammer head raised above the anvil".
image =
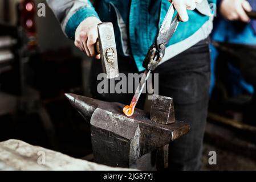
[[107, 78], [118, 77], [119, 70], [113, 24], [111, 22], [100, 23], [97, 30], [103, 72], [107, 74]]

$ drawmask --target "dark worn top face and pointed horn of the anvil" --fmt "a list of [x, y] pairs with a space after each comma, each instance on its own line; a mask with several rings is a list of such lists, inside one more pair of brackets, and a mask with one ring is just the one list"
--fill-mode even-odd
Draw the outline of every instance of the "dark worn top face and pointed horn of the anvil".
[[[68, 93], [65, 95], [70, 101], [71, 105], [79, 111], [79, 113], [83, 116], [84, 119], [86, 119], [87, 122], [90, 122], [92, 114], [97, 108], [107, 110], [113, 114], [118, 114], [120, 115], [120, 117], [123, 118], [128, 118], [122, 112], [122, 108], [124, 107], [123, 104], [117, 102], [105, 102], [95, 100], [90, 97], [78, 96], [72, 93]], [[168, 139], [169, 142], [171, 142], [172, 140], [181, 137], [189, 131], [189, 124], [181, 121], [176, 121], [172, 125], [162, 125], [161, 123], [152, 122], [149, 119], [149, 115], [145, 114], [144, 111], [141, 109], [136, 109], [134, 111], [134, 114], [129, 117], [129, 119], [139, 122], [141, 125], [148, 127], [148, 129], [151, 131], [157, 131], [157, 133], [160, 132], [159, 138], [157, 137], [159, 140], [164, 139], [165, 137], [163, 134], [166, 134], [169, 135]], [[148, 137], [152, 137], [153, 139], [154, 135], [154, 133], [151, 133]]]

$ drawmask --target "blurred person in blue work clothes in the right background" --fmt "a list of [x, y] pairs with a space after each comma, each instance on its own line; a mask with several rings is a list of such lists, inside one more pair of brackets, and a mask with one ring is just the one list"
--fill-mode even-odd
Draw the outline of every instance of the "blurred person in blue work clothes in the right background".
[[220, 0], [217, 10], [210, 108], [256, 125], [256, 1]]

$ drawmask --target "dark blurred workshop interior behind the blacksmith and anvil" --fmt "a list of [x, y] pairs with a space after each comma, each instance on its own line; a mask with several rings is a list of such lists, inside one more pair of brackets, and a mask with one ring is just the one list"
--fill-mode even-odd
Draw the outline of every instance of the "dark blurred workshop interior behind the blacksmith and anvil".
[[[64, 97], [90, 97], [91, 60], [64, 36], [45, 1], [22, 8], [29, 2], [0, 1], [0, 142], [19, 139], [93, 162], [90, 127]], [[46, 5], [45, 17], [37, 15], [38, 3]], [[251, 93], [231, 96], [219, 78], [225, 72], [216, 72], [202, 169], [256, 170], [255, 123], [243, 121]], [[216, 165], [208, 162], [210, 151]]]

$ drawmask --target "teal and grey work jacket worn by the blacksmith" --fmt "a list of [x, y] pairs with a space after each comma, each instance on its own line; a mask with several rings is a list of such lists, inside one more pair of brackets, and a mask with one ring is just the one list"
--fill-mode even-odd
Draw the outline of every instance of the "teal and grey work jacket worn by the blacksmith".
[[[205, 1], [202, 4], [205, 5]], [[206, 1], [207, 6], [201, 6], [201, 9], [198, 6], [194, 11], [188, 10], [189, 21], [179, 24], [168, 46], [182, 42], [197, 32], [210, 19], [209, 3], [215, 1]], [[75, 30], [80, 22], [90, 16], [96, 16], [102, 22], [112, 22], [117, 52], [119, 55], [133, 57], [139, 71], [144, 70], [142, 63], [145, 55], [151, 44], [155, 42], [159, 27], [170, 6], [168, 0], [102, 0], [95, 1], [94, 6], [86, 0], [47, 0], [47, 2], [70, 39], [74, 39]], [[182, 51], [184, 50], [180, 52]]]

